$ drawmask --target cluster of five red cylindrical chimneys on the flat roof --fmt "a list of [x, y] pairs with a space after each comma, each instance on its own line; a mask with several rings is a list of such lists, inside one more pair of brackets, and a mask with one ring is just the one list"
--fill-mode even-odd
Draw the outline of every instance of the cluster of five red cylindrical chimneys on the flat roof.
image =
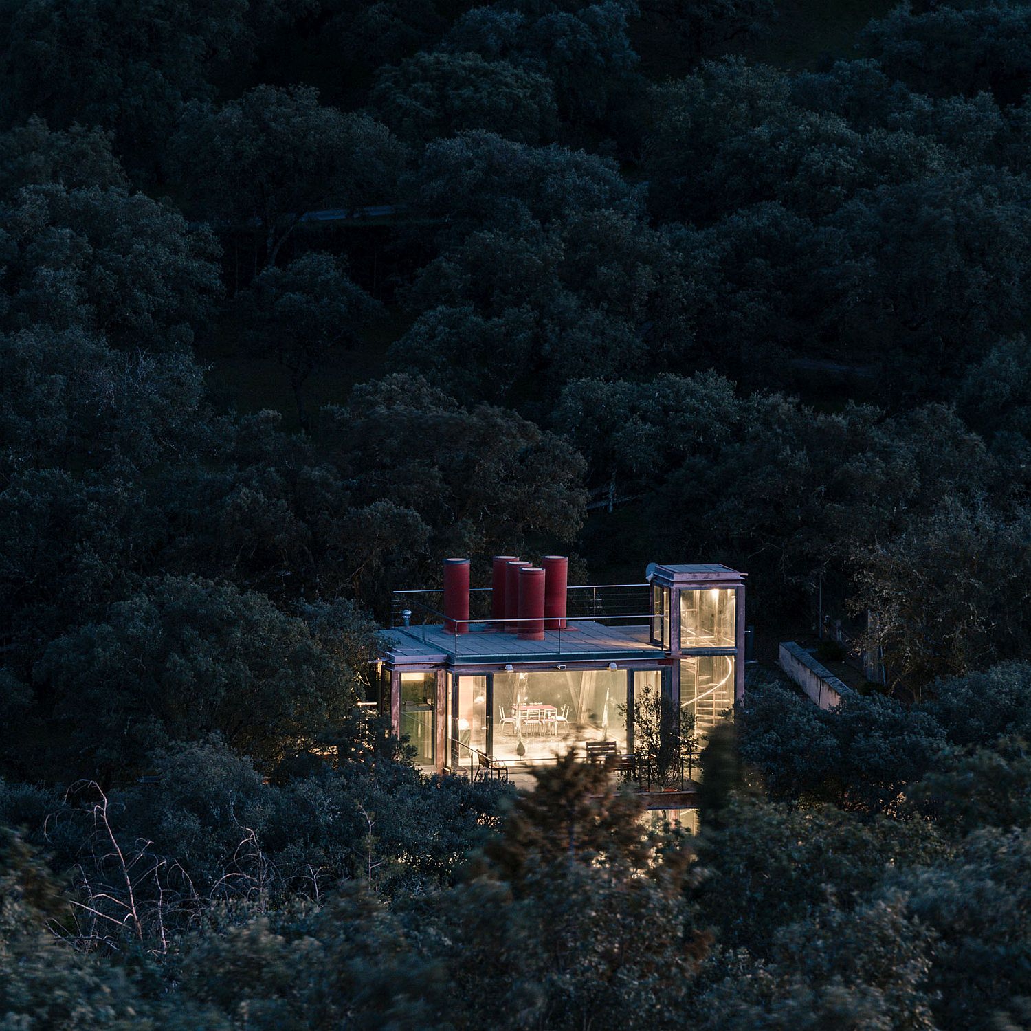
[[[526, 640], [543, 640], [544, 629], [566, 626], [569, 560], [545, 555], [539, 566], [513, 555], [496, 555], [491, 584], [491, 626], [518, 633]], [[444, 560], [444, 629], [469, 630], [469, 560]]]

